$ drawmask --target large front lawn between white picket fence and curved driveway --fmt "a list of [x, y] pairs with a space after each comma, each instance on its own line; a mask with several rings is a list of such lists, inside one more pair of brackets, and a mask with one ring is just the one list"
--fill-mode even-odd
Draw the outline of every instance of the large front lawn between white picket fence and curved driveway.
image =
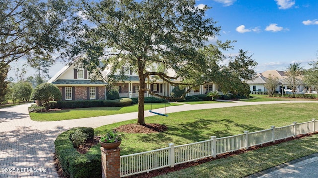
[[[210, 136], [225, 137], [268, 129], [270, 126], [285, 126], [293, 122], [318, 119], [318, 103], [288, 103], [239, 106], [230, 108], [205, 109], [169, 113], [169, 117], [152, 116], [146, 123], [159, 123], [168, 127], [162, 133], [127, 134], [121, 133], [121, 155], [167, 147], [169, 143], [182, 145], [210, 139]], [[95, 135], [129, 124], [129, 120], [95, 128]]]

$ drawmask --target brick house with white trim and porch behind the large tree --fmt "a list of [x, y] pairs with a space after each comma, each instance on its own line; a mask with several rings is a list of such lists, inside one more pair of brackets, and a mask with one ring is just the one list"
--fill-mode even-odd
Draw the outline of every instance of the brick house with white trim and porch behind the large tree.
[[[75, 65], [73, 63], [70, 66], [63, 67], [58, 73], [56, 73], [48, 82], [55, 84], [62, 93], [62, 100], [92, 100], [92, 99], [107, 99], [107, 87], [108, 84], [103, 79], [92, 81], [90, 79], [90, 74], [86, 69], [78, 67], [80, 65]], [[118, 83], [112, 86], [117, 89], [120, 97], [136, 98], [138, 97], [139, 90], [139, 77], [134, 73], [129, 66], [123, 66], [122, 71], [124, 71], [127, 79], [123, 81], [118, 81]], [[167, 75], [173, 76], [173, 70], [166, 70]], [[119, 75], [120, 71], [118, 71]], [[109, 71], [103, 71], [102, 74], [107, 76]], [[174, 86], [170, 85], [163, 80], [154, 80], [152, 76], [148, 82], [146, 79], [147, 88], [151, 91], [162, 95], [170, 96]], [[173, 82], [179, 82], [174, 80]], [[196, 94], [205, 94], [210, 91], [218, 91], [218, 86], [209, 83], [192, 89], [187, 96], [192, 96]], [[145, 97], [151, 97], [148, 92], [145, 92]]]

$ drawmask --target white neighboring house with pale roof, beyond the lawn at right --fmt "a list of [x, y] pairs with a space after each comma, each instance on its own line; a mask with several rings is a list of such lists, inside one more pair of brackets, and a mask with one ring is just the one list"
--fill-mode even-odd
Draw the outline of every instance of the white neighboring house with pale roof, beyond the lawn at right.
[[[269, 76], [271, 76], [272, 78], [278, 78], [279, 83], [276, 88], [276, 92], [278, 93], [282, 93], [283, 89], [290, 89], [292, 87], [290, 82], [288, 82], [288, 76], [285, 74], [284, 71], [268, 70], [262, 73], [258, 73], [254, 80], [247, 81], [247, 84], [249, 84], [250, 86], [251, 93], [257, 93], [258, 89], [261, 89], [261, 91], [266, 92], [267, 89], [265, 88], [264, 84], [269, 80]], [[297, 79], [296, 92], [303, 92], [304, 89], [305, 84], [300, 77], [300, 79]]]

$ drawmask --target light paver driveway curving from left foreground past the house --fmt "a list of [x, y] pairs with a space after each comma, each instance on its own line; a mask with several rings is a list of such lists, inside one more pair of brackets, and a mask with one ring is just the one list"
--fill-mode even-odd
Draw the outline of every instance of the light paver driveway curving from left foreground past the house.
[[[226, 102], [167, 107], [167, 113], [274, 103], [305, 103], [317, 101]], [[36, 122], [30, 119], [23, 104], [0, 109], [0, 178], [58, 178], [53, 163], [54, 140], [73, 127], [99, 127], [136, 119], [137, 112], [64, 121]], [[164, 108], [155, 112], [164, 113]], [[145, 117], [154, 114], [145, 111]]]

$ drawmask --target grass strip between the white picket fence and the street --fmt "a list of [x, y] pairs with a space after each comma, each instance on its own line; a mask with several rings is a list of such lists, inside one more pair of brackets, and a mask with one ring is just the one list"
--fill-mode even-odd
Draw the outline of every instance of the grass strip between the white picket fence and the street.
[[318, 134], [222, 158], [156, 178], [241, 178], [318, 152]]

